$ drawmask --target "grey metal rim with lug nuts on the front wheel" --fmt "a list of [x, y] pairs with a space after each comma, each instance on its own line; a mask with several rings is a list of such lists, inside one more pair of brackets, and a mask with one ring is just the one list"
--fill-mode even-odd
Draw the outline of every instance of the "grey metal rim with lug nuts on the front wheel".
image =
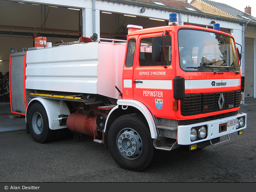
[[141, 137], [135, 130], [124, 128], [117, 135], [117, 149], [126, 159], [136, 159], [142, 152]]

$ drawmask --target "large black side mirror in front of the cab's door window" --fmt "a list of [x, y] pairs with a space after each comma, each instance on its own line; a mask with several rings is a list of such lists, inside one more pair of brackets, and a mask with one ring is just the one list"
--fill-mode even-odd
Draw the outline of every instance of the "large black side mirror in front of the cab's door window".
[[163, 63], [165, 60], [165, 41], [162, 37], [153, 37], [152, 40], [152, 57], [155, 63]]

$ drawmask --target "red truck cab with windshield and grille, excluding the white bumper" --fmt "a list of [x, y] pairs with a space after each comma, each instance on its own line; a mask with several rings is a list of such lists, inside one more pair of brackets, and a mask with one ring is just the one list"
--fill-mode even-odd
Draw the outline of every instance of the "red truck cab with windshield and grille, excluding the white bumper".
[[[152, 59], [152, 39], [161, 37], [165, 30], [168, 35], [163, 36], [165, 60], [162, 66]], [[225, 43], [219, 45], [222, 41]], [[132, 49], [134, 53], [130, 56]], [[133, 63], [129, 63], [130, 57]], [[222, 110], [225, 113], [237, 111], [240, 106], [241, 72], [234, 38], [221, 31], [173, 25], [130, 32], [123, 79], [123, 98], [143, 102], [154, 116], [160, 118], [197, 119], [223, 113]], [[181, 88], [177, 80], [183, 80], [184, 87]], [[183, 91], [184, 95], [176, 99], [175, 89]], [[201, 93], [220, 92], [228, 94], [223, 98], [232, 99], [221, 100], [220, 106], [219, 101], [217, 105], [215, 101], [207, 101], [202, 108], [196, 106], [196, 98]], [[187, 97], [194, 98], [189, 108]], [[178, 110], [173, 110], [173, 101], [176, 100]]]

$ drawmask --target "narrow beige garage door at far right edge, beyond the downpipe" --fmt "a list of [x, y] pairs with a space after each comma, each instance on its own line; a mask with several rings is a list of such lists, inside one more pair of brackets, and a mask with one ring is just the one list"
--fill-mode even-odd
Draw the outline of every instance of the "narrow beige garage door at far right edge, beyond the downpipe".
[[245, 98], [253, 97], [253, 39], [245, 38]]

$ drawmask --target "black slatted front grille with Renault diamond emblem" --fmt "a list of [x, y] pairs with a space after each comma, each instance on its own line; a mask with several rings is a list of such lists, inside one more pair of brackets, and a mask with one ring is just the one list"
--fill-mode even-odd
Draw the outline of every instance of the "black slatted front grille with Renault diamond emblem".
[[181, 100], [183, 116], [215, 112], [240, 106], [241, 91], [186, 94]]

